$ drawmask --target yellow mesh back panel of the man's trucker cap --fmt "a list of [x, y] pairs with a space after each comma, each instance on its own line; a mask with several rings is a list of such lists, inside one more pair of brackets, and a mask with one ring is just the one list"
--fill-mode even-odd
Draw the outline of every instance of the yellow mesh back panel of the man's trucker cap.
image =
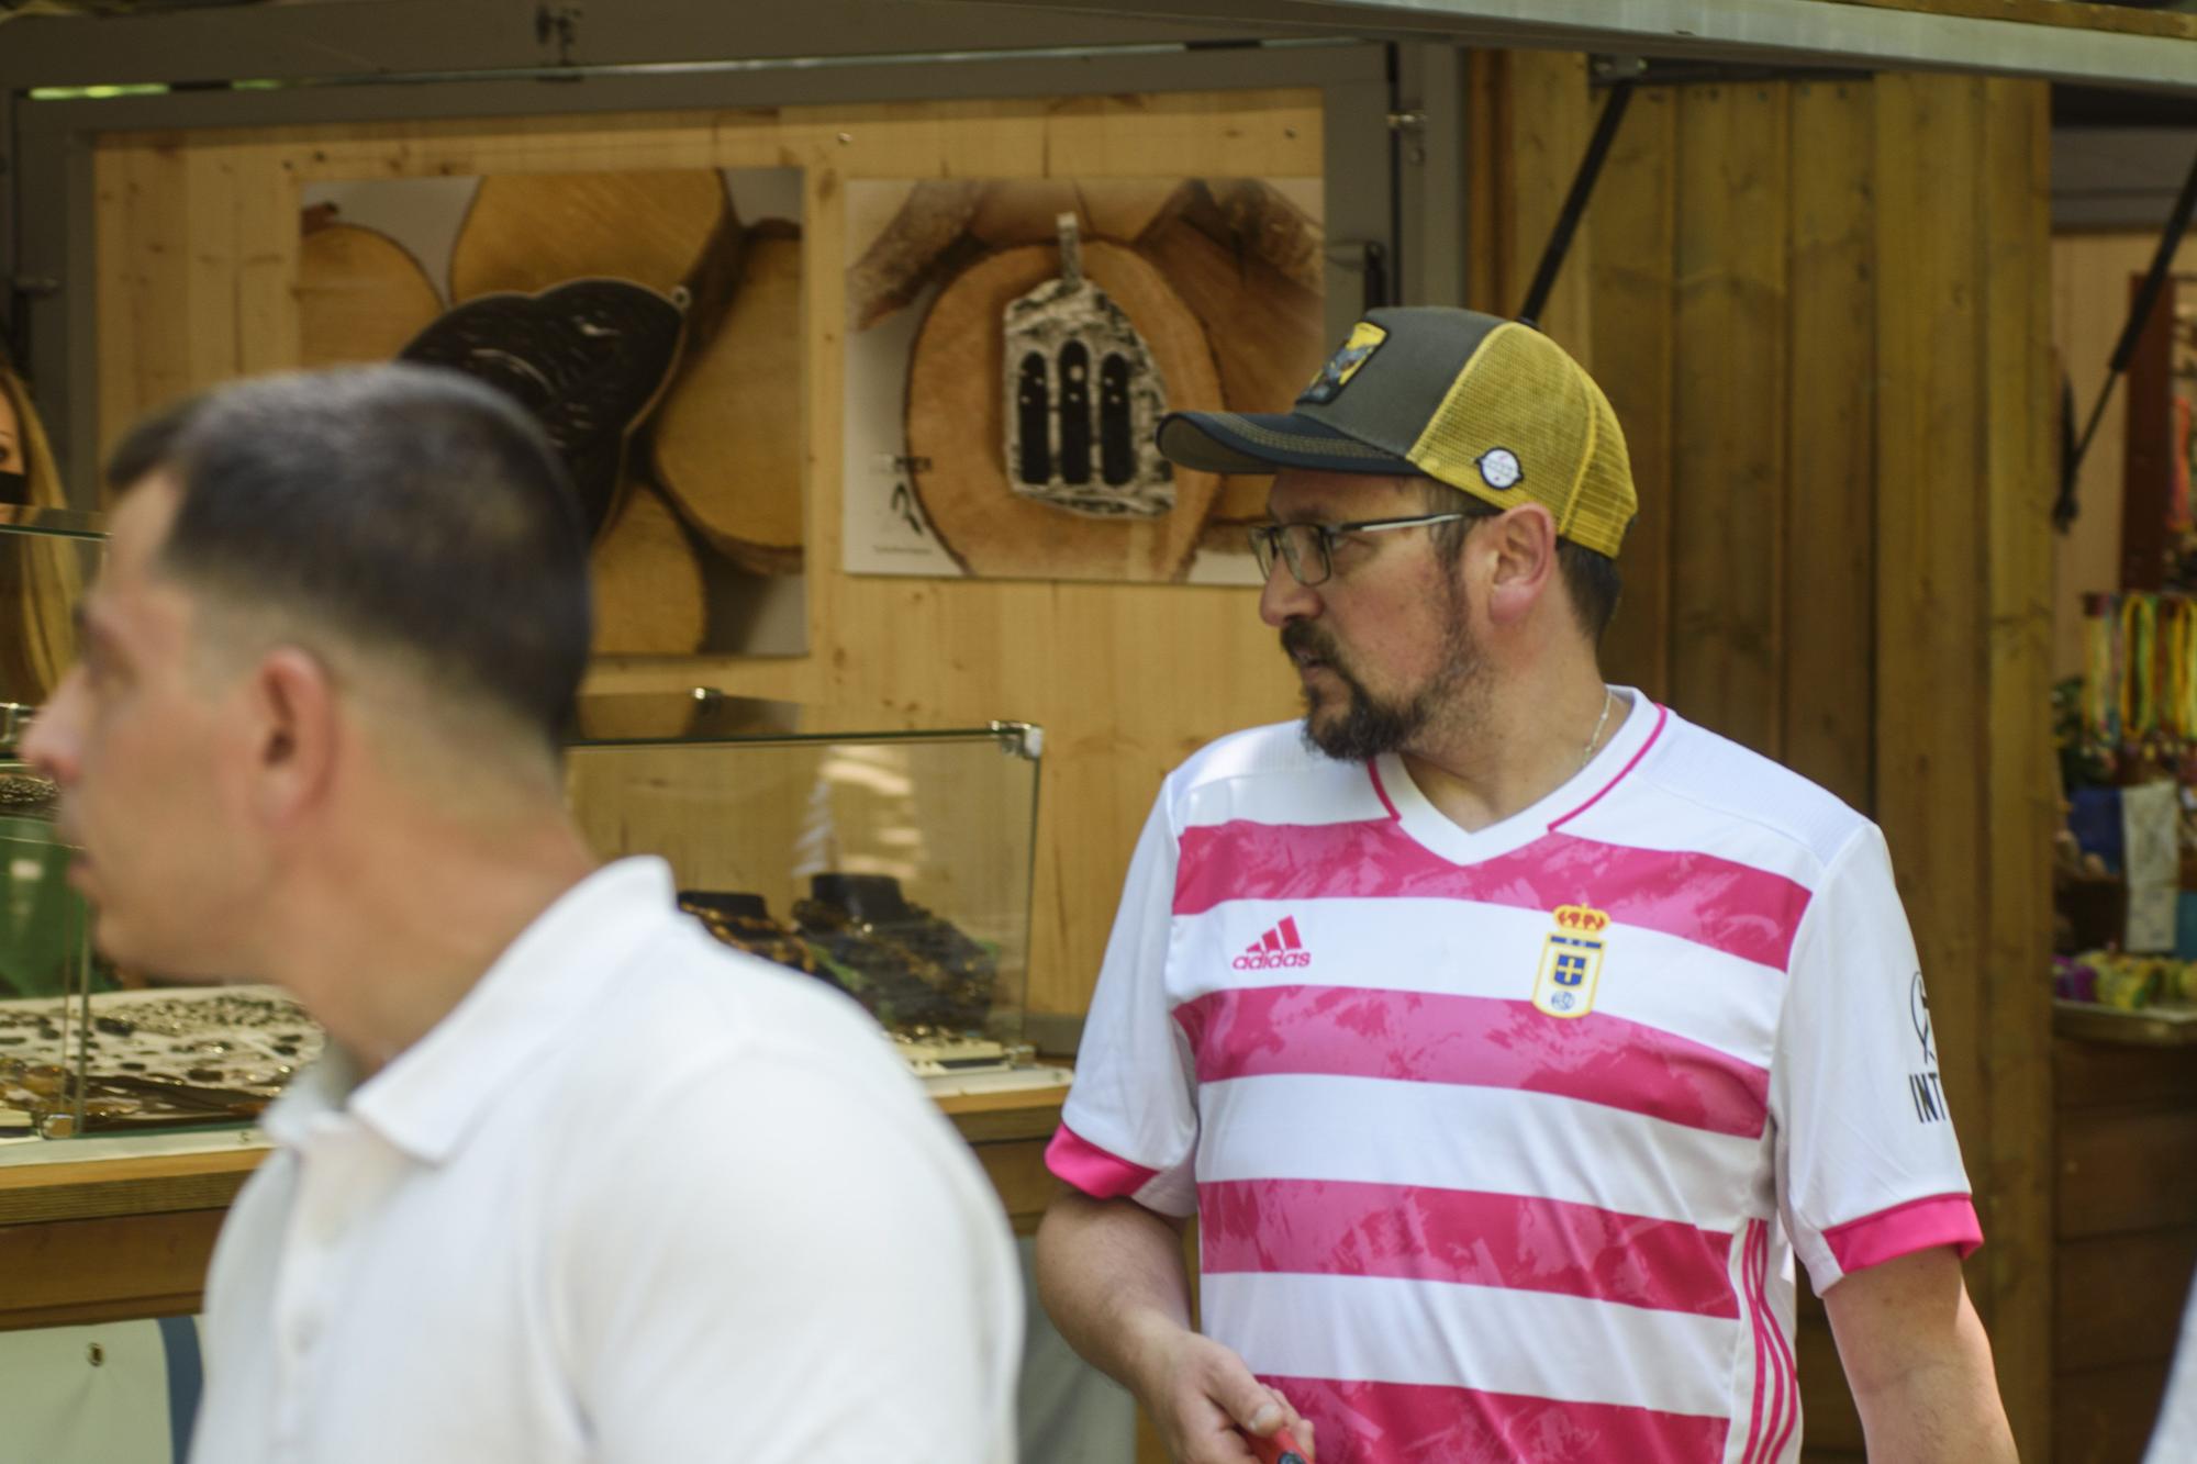
[[1615, 558], [1632, 466], [1602, 389], [1529, 325], [1498, 325], [1408, 453], [1428, 477], [1496, 508], [1544, 503], [1564, 539]]

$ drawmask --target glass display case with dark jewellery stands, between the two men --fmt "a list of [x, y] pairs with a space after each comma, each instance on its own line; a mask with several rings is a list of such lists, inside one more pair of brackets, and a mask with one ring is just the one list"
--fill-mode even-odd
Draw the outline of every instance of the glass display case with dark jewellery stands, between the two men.
[[798, 723], [710, 690], [589, 699], [571, 809], [600, 857], [668, 859], [725, 945], [846, 991], [934, 1090], [1061, 1082], [1024, 1044], [1041, 730]]

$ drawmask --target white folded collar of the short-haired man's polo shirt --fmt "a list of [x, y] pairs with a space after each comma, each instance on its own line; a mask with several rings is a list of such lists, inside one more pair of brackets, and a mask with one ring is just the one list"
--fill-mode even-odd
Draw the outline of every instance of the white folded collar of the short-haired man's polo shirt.
[[457, 1007], [389, 1066], [358, 1082], [349, 1055], [330, 1046], [266, 1110], [261, 1128], [294, 1147], [321, 1114], [349, 1108], [415, 1161], [448, 1161], [527, 1062], [600, 1000], [626, 954], [674, 908], [663, 859], [620, 859], [595, 870], [518, 932]]

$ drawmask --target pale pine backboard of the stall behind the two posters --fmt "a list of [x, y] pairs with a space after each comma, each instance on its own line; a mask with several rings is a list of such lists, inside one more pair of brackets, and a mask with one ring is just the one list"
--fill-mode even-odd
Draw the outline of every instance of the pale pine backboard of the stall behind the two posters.
[[841, 185], [1149, 176], [1156, 158], [1186, 176], [1318, 176], [1318, 92], [108, 136], [94, 156], [101, 435], [185, 391], [294, 363], [303, 182], [804, 167], [811, 651], [613, 659], [591, 688], [707, 684], [800, 701], [815, 708], [813, 725], [1048, 728], [1030, 1005], [1081, 1011], [1160, 776], [1224, 730], [1290, 717], [1294, 684], [1250, 589], [839, 572]]

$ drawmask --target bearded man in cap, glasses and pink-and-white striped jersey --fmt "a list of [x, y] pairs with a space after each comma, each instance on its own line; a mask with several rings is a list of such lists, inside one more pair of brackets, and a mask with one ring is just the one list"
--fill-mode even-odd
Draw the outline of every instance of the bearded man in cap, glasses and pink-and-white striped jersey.
[[1320, 1464], [1791, 1464], [1806, 1271], [1872, 1460], [2012, 1460], [1885, 842], [1604, 684], [1637, 503], [1593, 380], [1375, 310], [1294, 411], [1160, 446], [1274, 475], [1305, 721], [1145, 824], [1048, 1152], [1061, 1332], [1191, 1464], [1279, 1427]]

